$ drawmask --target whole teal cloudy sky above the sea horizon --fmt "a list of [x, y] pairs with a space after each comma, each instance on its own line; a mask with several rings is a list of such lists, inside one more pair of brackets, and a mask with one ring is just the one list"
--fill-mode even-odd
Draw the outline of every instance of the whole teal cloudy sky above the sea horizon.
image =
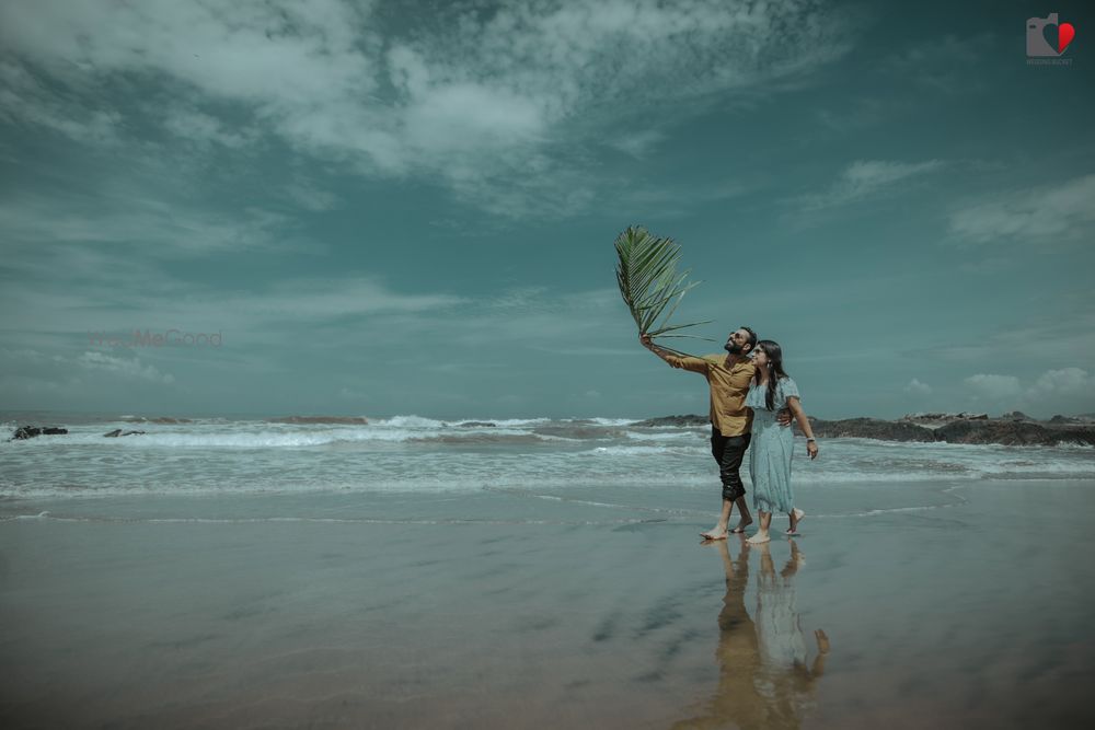
[[703, 414], [644, 225], [717, 340], [667, 344], [749, 325], [812, 416], [1092, 413], [1093, 49], [1086, 2], [3, 2], [0, 409]]

